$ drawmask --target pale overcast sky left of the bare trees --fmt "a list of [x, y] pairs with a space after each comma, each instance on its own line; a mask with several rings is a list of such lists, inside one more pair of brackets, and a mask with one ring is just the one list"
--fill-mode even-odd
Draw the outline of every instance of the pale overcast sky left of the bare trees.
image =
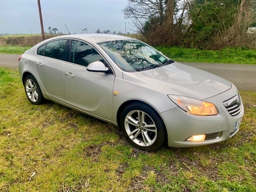
[[[134, 33], [129, 29], [129, 20], [124, 19], [127, 0], [41, 0], [44, 31], [57, 28], [58, 31], [88, 33], [110, 30]], [[1, 0], [0, 33], [41, 33], [37, 0]]]

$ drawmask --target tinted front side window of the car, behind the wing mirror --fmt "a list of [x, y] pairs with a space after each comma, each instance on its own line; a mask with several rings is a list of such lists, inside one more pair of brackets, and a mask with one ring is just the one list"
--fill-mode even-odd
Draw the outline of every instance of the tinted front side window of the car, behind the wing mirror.
[[77, 40], [72, 41], [70, 62], [87, 67], [94, 61], [104, 61], [102, 56], [90, 45]]

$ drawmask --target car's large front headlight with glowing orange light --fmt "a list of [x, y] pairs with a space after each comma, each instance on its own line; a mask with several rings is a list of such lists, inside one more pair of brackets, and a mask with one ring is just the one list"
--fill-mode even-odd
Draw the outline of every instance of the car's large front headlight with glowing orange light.
[[189, 97], [179, 95], [168, 95], [168, 97], [175, 103], [179, 108], [183, 109], [187, 113], [193, 115], [217, 115], [218, 111], [214, 104], [211, 102], [205, 102], [202, 100], [192, 99]]

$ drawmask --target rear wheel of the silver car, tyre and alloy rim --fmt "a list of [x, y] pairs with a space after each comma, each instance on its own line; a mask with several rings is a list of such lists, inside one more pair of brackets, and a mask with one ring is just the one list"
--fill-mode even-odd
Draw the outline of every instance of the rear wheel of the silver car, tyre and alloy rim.
[[42, 104], [44, 102], [44, 96], [42, 95], [40, 86], [38, 85], [35, 77], [28, 75], [24, 79], [24, 88], [28, 100], [35, 105]]

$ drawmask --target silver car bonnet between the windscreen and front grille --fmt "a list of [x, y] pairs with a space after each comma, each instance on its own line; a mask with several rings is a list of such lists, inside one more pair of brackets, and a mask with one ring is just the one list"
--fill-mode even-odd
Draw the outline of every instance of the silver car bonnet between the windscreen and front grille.
[[225, 92], [232, 86], [221, 77], [177, 62], [141, 72], [123, 72], [123, 77], [126, 81], [166, 95], [200, 100]]

